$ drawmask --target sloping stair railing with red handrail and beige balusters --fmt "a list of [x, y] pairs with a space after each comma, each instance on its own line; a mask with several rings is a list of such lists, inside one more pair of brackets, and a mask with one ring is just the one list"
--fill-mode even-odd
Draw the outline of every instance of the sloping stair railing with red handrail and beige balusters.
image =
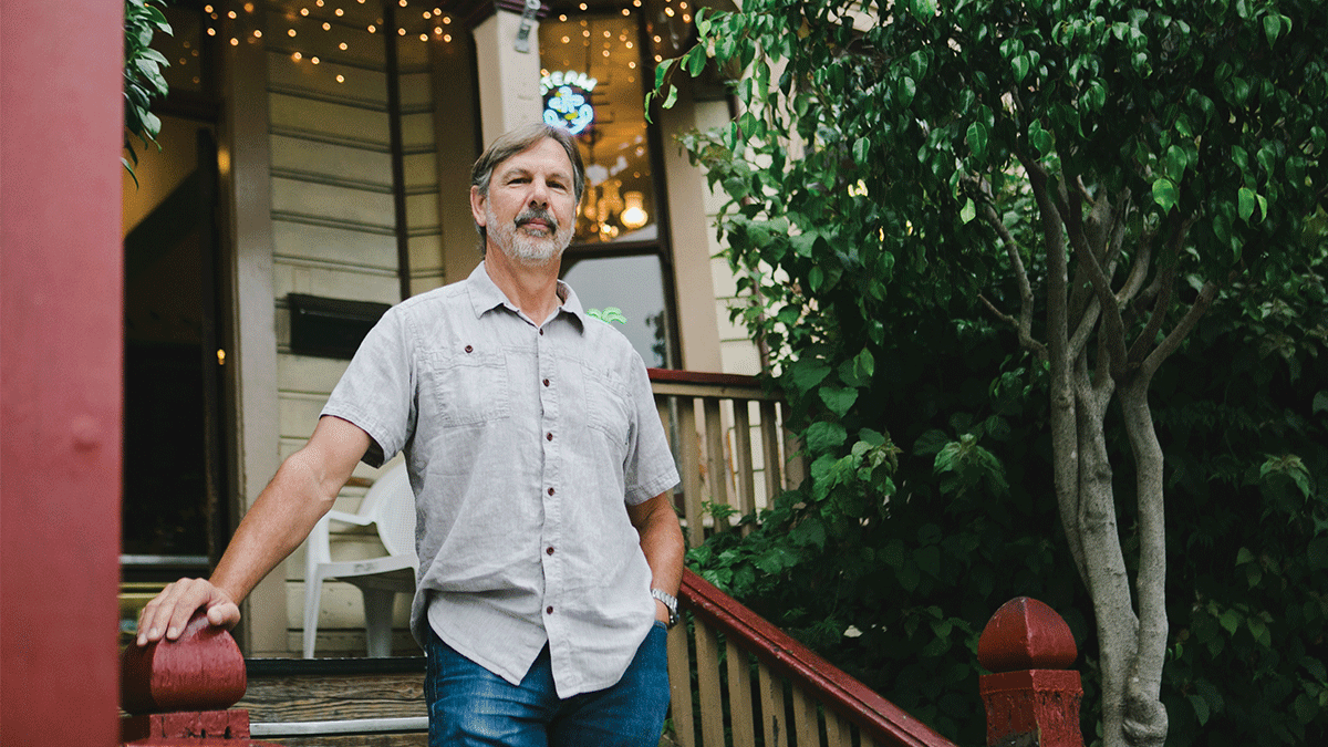
[[693, 622], [692, 635], [685, 625], [669, 631], [671, 718], [681, 747], [749, 747], [758, 735], [765, 747], [954, 747], [691, 570], [679, 598]]

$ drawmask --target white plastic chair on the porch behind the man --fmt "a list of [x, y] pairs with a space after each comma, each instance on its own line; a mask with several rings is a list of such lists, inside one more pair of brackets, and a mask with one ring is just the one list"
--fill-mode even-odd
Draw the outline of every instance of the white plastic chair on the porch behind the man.
[[[376, 525], [388, 554], [367, 560], [333, 561], [329, 524]], [[420, 561], [414, 550], [414, 492], [405, 463], [389, 469], [365, 493], [359, 513], [329, 510], [309, 533], [304, 560], [304, 658], [313, 658], [319, 631], [323, 582], [353, 584], [364, 595], [364, 630], [371, 657], [392, 654], [392, 607], [398, 591], [414, 593]]]

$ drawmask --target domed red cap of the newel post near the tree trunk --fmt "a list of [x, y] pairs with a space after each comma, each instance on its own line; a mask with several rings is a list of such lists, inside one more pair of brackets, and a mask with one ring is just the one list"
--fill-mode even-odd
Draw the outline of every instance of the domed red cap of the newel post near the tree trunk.
[[1077, 657], [1070, 626], [1031, 597], [1001, 605], [977, 639], [977, 662], [993, 673], [1068, 669]]

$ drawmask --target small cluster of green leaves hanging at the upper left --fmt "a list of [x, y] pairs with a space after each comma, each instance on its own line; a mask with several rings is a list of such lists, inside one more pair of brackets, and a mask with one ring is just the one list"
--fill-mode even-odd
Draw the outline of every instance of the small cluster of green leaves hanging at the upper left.
[[151, 48], [154, 33], [173, 33], [166, 16], [154, 1], [125, 0], [125, 150], [129, 152], [129, 158], [122, 157], [121, 162], [129, 175], [134, 177], [135, 185], [138, 153], [134, 150], [134, 138], [142, 141], [143, 148], [157, 141], [162, 122], [150, 108], [154, 98], [166, 96], [166, 78], [161, 68], [170, 66], [166, 57]]

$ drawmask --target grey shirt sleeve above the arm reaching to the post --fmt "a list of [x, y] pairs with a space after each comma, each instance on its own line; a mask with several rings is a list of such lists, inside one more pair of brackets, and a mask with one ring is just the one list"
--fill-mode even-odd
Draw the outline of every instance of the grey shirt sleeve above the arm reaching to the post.
[[348, 420], [373, 439], [363, 461], [382, 467], [416, 427], [416, 367], [409, 320], [393, 307], [369, 330], [321, 415]]

